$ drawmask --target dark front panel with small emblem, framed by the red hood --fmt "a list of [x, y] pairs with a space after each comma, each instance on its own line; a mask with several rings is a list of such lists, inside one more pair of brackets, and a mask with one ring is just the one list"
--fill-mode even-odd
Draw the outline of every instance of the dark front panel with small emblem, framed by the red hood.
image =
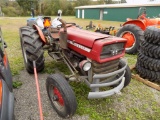
[[100, 55], [101, 59], [112, 57], [118, 54], [121, 54], [124, 50], [124, 43], [114, 43], [110, 45], [105, 45], [102, 48], [102, 52]]

